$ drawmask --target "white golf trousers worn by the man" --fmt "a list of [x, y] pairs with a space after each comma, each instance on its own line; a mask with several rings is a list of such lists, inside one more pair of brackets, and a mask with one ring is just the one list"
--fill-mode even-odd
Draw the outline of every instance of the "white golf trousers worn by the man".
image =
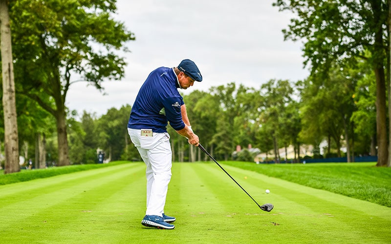
[[162, 217], [166, 204], [168, 184], [171, 180], [172, 152], [170, 135], [155, 133], [142, 136], [141, 130], [128, 128], [130, 140], [136, 146], [144, 163], [147, 177], [146, 215]]

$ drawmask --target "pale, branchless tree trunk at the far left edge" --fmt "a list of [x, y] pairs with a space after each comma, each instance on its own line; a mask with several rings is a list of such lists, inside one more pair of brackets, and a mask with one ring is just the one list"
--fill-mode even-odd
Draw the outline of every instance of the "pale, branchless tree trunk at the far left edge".
[[11, 28], [7, 0], [0, 0], [1, 75], [4, 112], [4, 174], [21, 171], [15, 101], [14, 66], [12, 60]]

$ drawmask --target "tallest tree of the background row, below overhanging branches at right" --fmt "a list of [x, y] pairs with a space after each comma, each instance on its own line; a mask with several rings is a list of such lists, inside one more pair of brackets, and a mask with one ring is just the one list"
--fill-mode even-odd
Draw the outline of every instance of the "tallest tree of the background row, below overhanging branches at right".
[[[330, 154], [332, 138], [336, 144], [337, 156], [341, 157], [341, 137], [347, 142], [348, 162], [353, 141], [354, 124], [351, 121], [356, 109], [353, 102], [354, 89], [357, 83], [357, 72], [352, 69], [331, 67], [326, 77], [310, 76], [302, 89], [302, 136], [306, 142], [319, 145], [328, 138]], [[305, 136], [306, 135], [306, 136]]]

